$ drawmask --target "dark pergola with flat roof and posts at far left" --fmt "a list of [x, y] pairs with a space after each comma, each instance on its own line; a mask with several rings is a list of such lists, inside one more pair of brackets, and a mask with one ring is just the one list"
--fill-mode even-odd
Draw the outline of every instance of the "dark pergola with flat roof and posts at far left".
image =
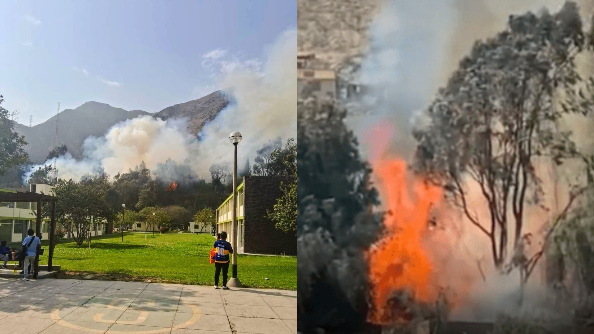
[[[49, 254], [48, 254], [48, 272], [52, 271], [53, 260], [53, 234], [56, 231], [56, 197], [46, 194], [31, 193], [30, 191], [0, 191], [0, 202], [36, 202], [37, 217], [35, 225], [35, 235], [41, 239], [41, 210], [42, 203], [52, 202], [52, 219], [50, 221], [49, 232]], [[33, 278], [37, 278], [39, 272], [39, 253], [35, 257]], [[27, 270], [23, 268], [23, 270]]]

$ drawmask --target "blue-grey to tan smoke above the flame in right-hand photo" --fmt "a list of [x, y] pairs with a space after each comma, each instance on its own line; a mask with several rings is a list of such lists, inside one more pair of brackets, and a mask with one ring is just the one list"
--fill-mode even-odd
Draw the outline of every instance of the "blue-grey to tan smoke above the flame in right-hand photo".
[[[356, 80], [371, 86], [356, 108], [365, 115], [348, 119], [361, 138], [363, 152], [369, 129], [386, 119], [394, 126], [391, 152], [408, 157], [415, 148], [412, 128], [423, 124], [422, 111], [476, 40], [505, 29], [511, 14], [538, 12], [545, 7], [556, 12], [564, 2], [384, 0], [368, 32], [369, 49], [361, 70], [355, 74]], [[594, 14], [594, 1], [578, 0], [577, 4], [587, 24]], [[582, 67], [589, 66], [592, 73], [592, 65], [587, 63]], [[582, 119], [576, 126], [582, 128], [583, 124]]]

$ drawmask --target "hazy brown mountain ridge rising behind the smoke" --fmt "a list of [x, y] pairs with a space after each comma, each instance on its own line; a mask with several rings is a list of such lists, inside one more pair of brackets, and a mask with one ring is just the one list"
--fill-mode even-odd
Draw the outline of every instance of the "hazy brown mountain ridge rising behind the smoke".
[[[156, 114], [142, 110], [126, 111], [106, 103], [86, 102], [76, 109], [65, 109], [60, 112], [58, 146], [65, 144], [72, 156], [83, 156], [83, 142], [89, 136], [102, 136], [118, 122], [140, 115], [153, 115], [161, 119], [187, 118], [189, 131], [197, 135], [206, 122], [213, 120], [219, 112], [229, 104], [229, 99], [221, 92], [214, 92], [197, 100], [169, 106]], [[27, 127], [23, 124], [15, 126], [17, 133], [25, 136], [29, 143], [25, 150], [31, 162], [43, 163], [54, 147], [56, 116], [42, 124]]]

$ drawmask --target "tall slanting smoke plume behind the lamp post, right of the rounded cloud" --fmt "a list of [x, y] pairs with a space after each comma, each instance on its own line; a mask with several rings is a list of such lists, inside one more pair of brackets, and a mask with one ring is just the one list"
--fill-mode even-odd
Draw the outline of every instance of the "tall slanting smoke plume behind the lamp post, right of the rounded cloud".
[[238, 168], [268, 140], [296, 137], [296, 52], [297, 31], [285, 31], [268, 50], [264, 76], [240, 71], [223, 80], [220, 86], [231, 87], [236, 103], [203, 128], [202, 143], [193, 159], [200, 175], [205, 175], [212, 163], [232, 164], [233, 146], [228, 137], [233, 131], [243, 136], [238, 146]]

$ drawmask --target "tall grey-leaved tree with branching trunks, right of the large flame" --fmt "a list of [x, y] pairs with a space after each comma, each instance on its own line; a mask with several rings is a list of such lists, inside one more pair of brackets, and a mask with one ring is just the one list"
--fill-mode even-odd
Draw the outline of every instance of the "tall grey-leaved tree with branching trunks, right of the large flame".
[[[519, 266], [522, 282], [542, 253], [514, 256], [508, 264], [505, 260], [510, 241], [516, 253], [527, 240], [527, 202], [539, 203], [544, 195], [535, 165], [551, 160], [560, 165], [566, 158], [582, 156], [558, 120], [564, 114], [588, 112], [575, 103], [584, 95], [574, 64], [583, 48], [582, 23], [573, 2], [554, 15], [544, 11], [511, 16], [507, 30], [475, 43], [429, 106], [429, 125], [414, 133], [418, 171], [441, 185], [488, 238], [495, 267], [508, 272]], [[567, 105], [555, 103], [560, 90]], [[487, 222], [469, 207], [468, 178], [480, 187], [489, 209]], [[583, 188], [571, 189], [567, 207], [551, 226], [567, 217], [581, 193]]]

